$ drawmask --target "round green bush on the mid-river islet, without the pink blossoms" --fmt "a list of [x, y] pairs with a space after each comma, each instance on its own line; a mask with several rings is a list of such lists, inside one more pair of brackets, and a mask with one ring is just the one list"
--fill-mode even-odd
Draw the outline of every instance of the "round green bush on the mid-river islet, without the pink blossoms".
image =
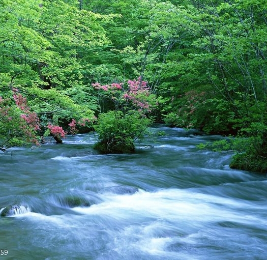
[[108, 111], [101, 113], [95, 129], [99, 142], [95, 148], [103, 154], [133, 153], [134, 141], [142, 138], [151, 120], [144, 118], [138, 111], [128, 113]]

